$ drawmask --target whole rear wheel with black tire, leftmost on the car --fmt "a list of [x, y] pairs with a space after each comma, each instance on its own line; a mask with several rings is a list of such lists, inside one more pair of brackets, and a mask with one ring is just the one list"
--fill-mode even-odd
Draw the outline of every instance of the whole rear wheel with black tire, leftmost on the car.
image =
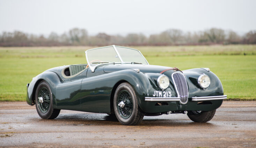
[[[43, 102], [40, 102], [40, 98], [43, 98]], [[41, 81], [35, 94], [36, 110], [38, 115], [43, 119], [54, 119], [58, 117], [60, 109], [53, 109], [52, 92], [50, 86], [46, 81]]]

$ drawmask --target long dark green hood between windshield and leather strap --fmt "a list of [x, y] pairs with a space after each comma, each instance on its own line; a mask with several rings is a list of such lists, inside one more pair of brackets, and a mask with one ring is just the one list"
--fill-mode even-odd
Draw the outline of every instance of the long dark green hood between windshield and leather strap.
[[115, 65], [107, 65], [104, 67], [104, 72], [110, 73], [120, 70], [126, 69], [139, 69], [144, 73], [160, 73], [165, 69], [169, 69], [171, 67], [158, 66], [158, 65], [145, 65], [145, 64], [115, 64]]

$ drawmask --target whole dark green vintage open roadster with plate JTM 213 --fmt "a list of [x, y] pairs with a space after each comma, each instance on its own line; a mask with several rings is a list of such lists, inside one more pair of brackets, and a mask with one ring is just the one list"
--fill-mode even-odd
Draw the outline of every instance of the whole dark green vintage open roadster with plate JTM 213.
[[41, 118], [54, 119], [65, 109], [105, 113], [124, 125], [177, 113], [208, 122], [227, 98], [208, 68], [149, 65], [138, 50], [115, 45], [85, 53], [88, 64], [52, 68], [27, 84], [27, 103], [36, 104]]

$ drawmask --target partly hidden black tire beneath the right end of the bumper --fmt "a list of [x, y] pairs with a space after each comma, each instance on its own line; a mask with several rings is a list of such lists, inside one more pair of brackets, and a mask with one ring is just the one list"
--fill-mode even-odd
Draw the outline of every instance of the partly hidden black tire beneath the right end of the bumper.
[[216, 110], [211, 110], [211, 111], [188, 111], [188, 117], [193, 121], [193, 122], [208, 122], [210, 121], [213, 116], [215, 115]]

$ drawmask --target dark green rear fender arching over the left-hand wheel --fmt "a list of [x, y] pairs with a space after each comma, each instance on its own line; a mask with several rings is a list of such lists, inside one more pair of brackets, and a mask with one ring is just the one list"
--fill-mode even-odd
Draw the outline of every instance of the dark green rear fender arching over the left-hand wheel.
[[45, 80], [52, 91], [52, 97], [53, 97], [53, 108], [56, 108], [56, 86], [61, 83], [61, 79], [58, 77], [58, 75], [55, 72], [46, 71], [43, 73], [40, 73], [36, 77], [32, 79], [30, 84], [27, 85], [27, 98], [26, 101], [29, 105], [33, 106], [35, 104], [35, 92], [37, 85], [42, 81]]

